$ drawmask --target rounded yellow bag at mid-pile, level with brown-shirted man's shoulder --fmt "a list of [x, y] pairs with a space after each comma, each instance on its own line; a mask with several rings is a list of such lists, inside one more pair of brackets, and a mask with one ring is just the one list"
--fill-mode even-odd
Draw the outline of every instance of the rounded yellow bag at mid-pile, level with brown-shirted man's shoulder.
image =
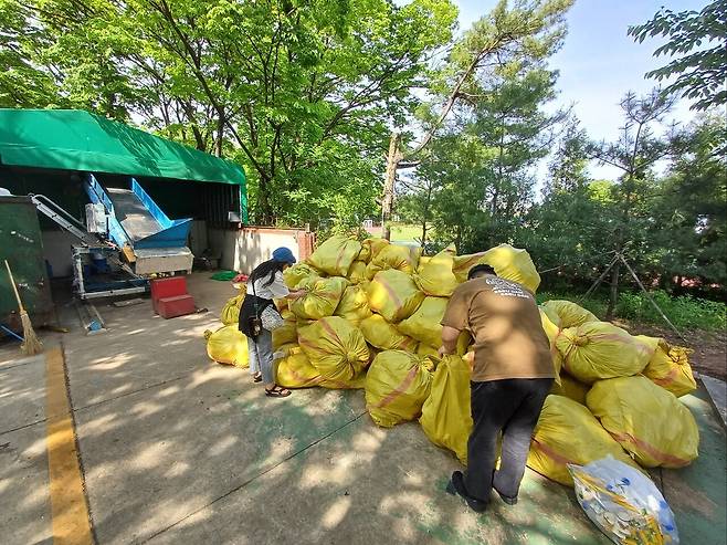
[[396, 269], [378, 273], [368, 285], [367, 295], [371, 311], [392, 324], [414, 314], [425, 297], [409, 274]]

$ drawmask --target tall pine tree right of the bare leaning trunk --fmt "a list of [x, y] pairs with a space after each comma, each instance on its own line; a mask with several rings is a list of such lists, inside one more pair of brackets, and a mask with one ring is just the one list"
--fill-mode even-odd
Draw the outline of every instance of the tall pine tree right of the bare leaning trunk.
[[[512, 241], [523, 223], [534, 198], [533, 167], [563, 117], [545, 113], [557, 77], [546, 63], [562, 44], [571, 3], [501, 1], [455, 45], [434, 90], [446, 94], [453, 80], [475, 70], [457, 94], [454, 120], [431, 143], [413, 182], [403, 184], [408, 216], [418, 216], [423, 233], [434, 228], [435, 245], [481, 250]], [[423, 118], [435, 116], [430, 111]]]

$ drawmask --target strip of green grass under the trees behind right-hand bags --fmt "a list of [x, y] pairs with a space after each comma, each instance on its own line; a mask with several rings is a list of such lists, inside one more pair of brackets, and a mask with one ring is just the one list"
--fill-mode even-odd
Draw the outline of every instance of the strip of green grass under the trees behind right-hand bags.
[[[656, 304], [679, 329], [724, 331], [727, 327], [727, 305], [716, 301], [692, 297], [689, 295], [671, 296], [657, 290], [651, 292]], [[583, 301], [572, 294], [542, 292], [537, 295], [538, 303], [549, 300], [567, 300], [578, 303], [603, 319], [608, 308], [608, 297], [596, 295]], [[664, 325], [656, 308], [643, 292], [621, 293], [617, 305], [617, 316], [643, 324]]]

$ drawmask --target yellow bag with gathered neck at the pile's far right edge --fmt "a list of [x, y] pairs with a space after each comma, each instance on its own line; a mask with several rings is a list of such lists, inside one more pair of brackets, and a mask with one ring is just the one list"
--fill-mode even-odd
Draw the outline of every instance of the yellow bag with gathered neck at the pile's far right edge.
[[654, 354], [643, 371], [646, 378], [676, 397], [686, 396], [697, 389], [688, 357], [692, 349], [670, 345], [663, 338], [645, 335], [638, 335], [636, 338], [654, 347]]

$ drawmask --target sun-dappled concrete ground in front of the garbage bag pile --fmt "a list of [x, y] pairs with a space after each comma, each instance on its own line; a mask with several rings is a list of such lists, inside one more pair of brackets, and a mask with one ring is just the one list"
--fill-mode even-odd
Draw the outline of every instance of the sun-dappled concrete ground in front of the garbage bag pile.
[[[476, 515], [444, 493], [460, 465], [418, 423], [373, 426], [359, 391], [308, 389], [268, 399], [246, 371], [211, 363], [229, 283], [194, 274], [210, 313], [165, 321], [149, 302], [98, 306], [109, 332], [73, 315], [62, 343], [94, 539], [126, 543], [605, 544], [572, 490], [527, 471], [515, 507]], [[49, 485], [45, 360], [0, 348], [0, 528], [8, 544], [51, 543], [63, 494]], [[50, 384], [50, 382], [49, 382]], [[657, 471], [683, 544], [727, 535], [725, 429], [704, 389], [683, 398], [700, 458]], [[60, 500], [59, 500], [60, 497]]]

